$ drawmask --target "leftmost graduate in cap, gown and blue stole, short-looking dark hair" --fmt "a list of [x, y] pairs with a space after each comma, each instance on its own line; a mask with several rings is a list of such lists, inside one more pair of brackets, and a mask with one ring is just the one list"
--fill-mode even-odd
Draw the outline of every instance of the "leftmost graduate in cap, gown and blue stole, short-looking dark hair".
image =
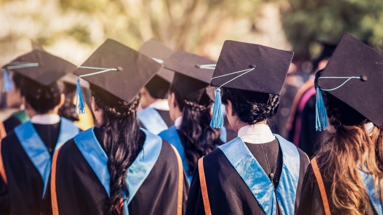
[[63, 86], [57, 80], [76, 66], [43, 50], [33, 50], [4, 68], [23, 75], [21, 96], [30, 120], [1, 140], [0, 212], [49, 215], [52, 156], [79, 133], [76, 125], [57, 114], [64, 103]]

